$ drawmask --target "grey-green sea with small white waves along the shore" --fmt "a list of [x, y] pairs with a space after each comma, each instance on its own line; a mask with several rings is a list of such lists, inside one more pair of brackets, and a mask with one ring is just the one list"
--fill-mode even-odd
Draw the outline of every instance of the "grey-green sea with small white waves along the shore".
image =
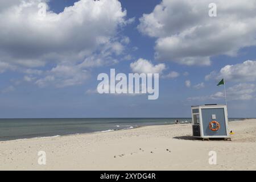
[[127, 130], [140, 126], [170, 125], [176, 120], [181, 124], [191, 123], [191, 118], [0, 119], [0, 140]]

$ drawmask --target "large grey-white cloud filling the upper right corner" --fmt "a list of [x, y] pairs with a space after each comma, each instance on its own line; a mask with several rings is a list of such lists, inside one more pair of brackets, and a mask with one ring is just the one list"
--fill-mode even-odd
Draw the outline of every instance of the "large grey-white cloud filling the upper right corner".
[[140, 18], [138, 30], [157, 38], [155, 58], [185, 65], [210, 65], [214, 55], [236, 56], [256, 45], [256, 2], [217, 0], [217, 17], [208, 15], [211, 0], [163, 0]]

